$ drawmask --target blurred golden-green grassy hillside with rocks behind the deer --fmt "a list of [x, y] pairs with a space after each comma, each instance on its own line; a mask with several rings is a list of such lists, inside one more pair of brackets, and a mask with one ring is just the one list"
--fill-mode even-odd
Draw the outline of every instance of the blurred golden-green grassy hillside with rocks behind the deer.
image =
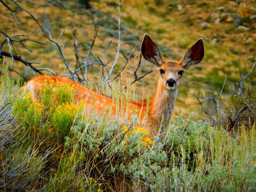
[[[43, 2], [43, 1], [42, 1]], [[85, 9], [77, 1], [64, 2], [59, 1], [63, 7], [50, 5], [47, 7], [31, 5], [23, 2], [26, 7], [43, 25], [46, 25], [52, 33], [54, 39], [57, 39], [63, 30], [65, 33], [61, 43], [73, 45], [72, 25], [79, 25], [92, 41], [95, 32], [92, 23], [92, 13], [94, 15], [95, 25], [97, 27], [97, 39], [95, 41], [93, 52], [102, 58], [103, 51], [108, 42], [117, 34], [117, 9], [118, 1], [113, 0], [92, 0], [91, 9]], [[11, 3], [10, 3], [11, 5]], [[248, 70], [255, 61], [256, 50], [256, 19], [255, 1], [165, 1], [165, 0], [126, 0], [121, 3], [121, 51], [126, 57], [130, 54], [135, 45], [137, 49], [134, 57], [128, 63], [126, 70], [122, 74], [122, 83], [129, 82], [131, 71], [134, 70], [139, 60], [139, 47], [144, 33], [157, 42], [164, 58], [174, 60], [182, 58], [186, 50], [198, 39], [204, 39], [205, 56], [202, 63], [190, 69], [183, 79], [183, 85], [179, 89], [176, 111], [182, 110], [182, 113], [191, 112], [198, 108], [196, 99], [188, 95], [188, 92], [196, 93], [198, 89], [203, 92], [216, 94], [220, 92], [225, 77], [228, 77], [224, 92], [234, 88], [239, 76], [239, 67], [248, 57]], [[3, 31], [9, 36], [17, 34], [26, 34], [28, 38], [35, 40], [45, 40], [42, 35], [35, 33], [39, 30], [36, 23], [26, 12], [17, 12], [17, 18], [25, 27], [26, 31], [17, 25], [10, 11], [6, 7], [0, 7], [0, 20]], [[45, 16], [44, 16], [45, 14]], [[45, 17], [45, 22], [43, 18]], [[242, 26], [242, 27], [241, 27]], [[77, 28], [77, 27], [76, 27]], [[86, 43], [85, 36], [81, 31], [77, 31], [77, 39], [80, 44]], [[1, 40], [4, 36], [0, 35]], [[18, 55], [27, 60], [39, 61], [40, 66], [49, 67], [63, 75], [64, 65], [58, 50], [54, 47], [38, 45], [33, 42], [26, 42], [26, 45], [33, 49], [29, 52], [19, 47]], [[6, 47], [7, 49], [7, 47]], [[8, 49], [7, 49], [8, 50]], [[82, 48], [81, 54], [85, 56], [87, 49]], [[74, 47], [65, 47], [65, 57], [71, 67], [75, 66]], [[106, 60], [115, 58], [117, 53], [117, 38], [106, 52]], [[238, 58], [240, 61], [238, 61]], [[7, 59], [8, 60], [8, 59]], [[92, 59], [91, 59], [92, 60]], [[10, 62], [10, 60], [8, 60]], [[115, 74], [121, 70], [125, 59], [120, 56]], [[25, 73], [27, 77], [31, 76], [31, 71], [24, 68], [23, 65], [17, 65], [16, 69]], [[35, 66], [39, 66], [35, 64]], [[110, 69], [111, 63], [109, 65]], [[154, 69], [153, 66], [142, 61], [139, 69], [140, 74]], [[97, 80], [100, 77], [98, 67], [90, 67], [89, 78]], [[157, 72], [146, 76], [134, 84], [137, 93], [144, 98], [148, 94], [153, 95], [158, 79]], [[255, 69], [252, 74], [252, 82], [255, 82]], [[191, 107], [192, 106], [192, 107]]]

